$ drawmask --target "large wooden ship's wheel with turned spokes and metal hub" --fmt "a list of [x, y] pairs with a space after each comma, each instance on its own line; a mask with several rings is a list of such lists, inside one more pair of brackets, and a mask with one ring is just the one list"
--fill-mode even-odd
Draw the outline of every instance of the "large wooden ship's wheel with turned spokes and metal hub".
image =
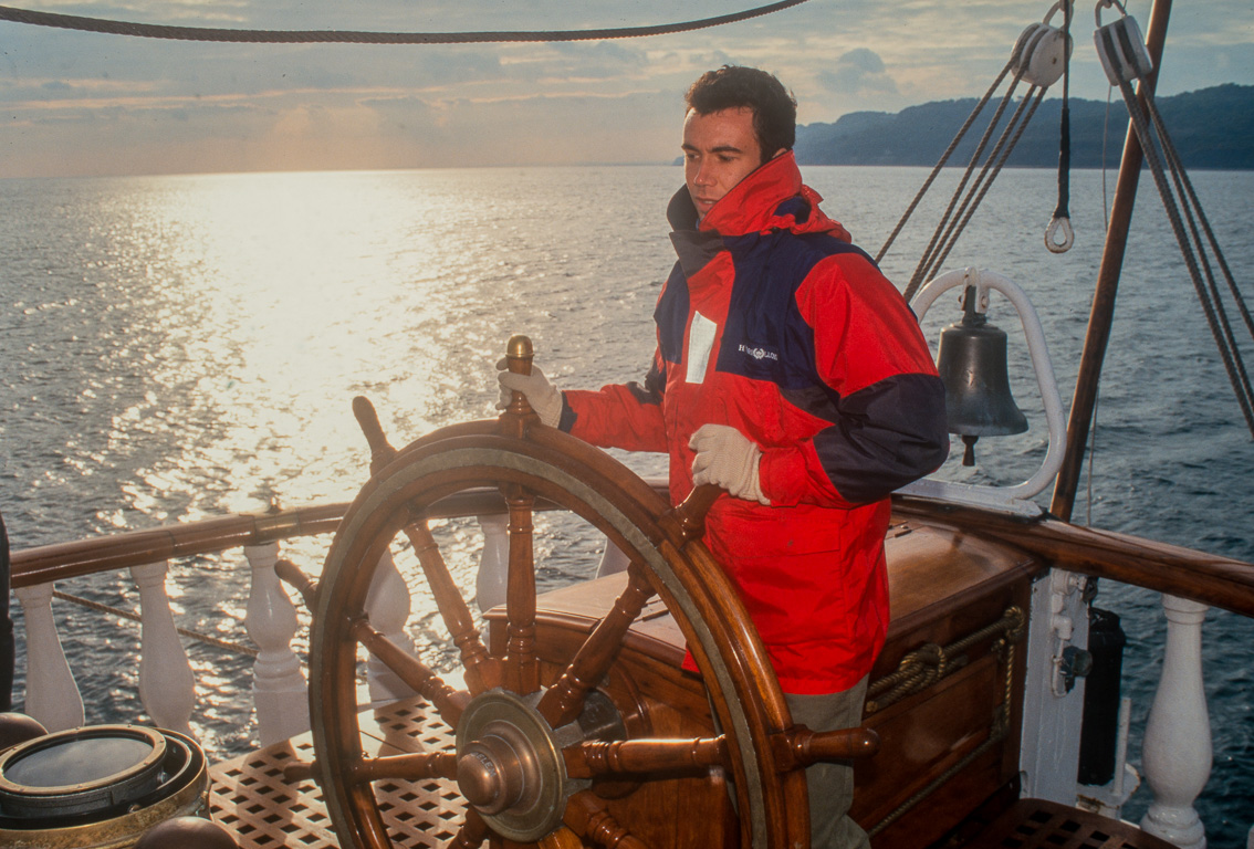
[[[514, 337], [509, 357], [510, 369], [529, 370], [530, 344]], [[793, 727], [762, 645], [700, 541], [701, 517], [719, 490], [698, 488], [672, 509], [603, 451], [539, 424], [518, 394], [499, 420], [446, 428], [399, 451], [386, 444], [369, 404], [356, 404], [374, 449], [374, 474], [327, 557], [310, 665], [316, 770], [341, 846], [394, 845], [374, 783], [433, 779], [449, 783], [466, 803], [449, 845], [651, 846], [638, 836], [638, 824], [612, 815], [609, 798], [622, 794], [626, 781], [693, 770], [726, 774], [741, 846], [809, 845], [804, 766], [865, 754], [875, 737]], [[500, 494], [509, 517], [507, 637], [495, 652], [428, 528], [433, 505], [483, 488]], [[532, 519], [540, 505], [582, 517], [630, 559], [626, 589], [559, 675], [542, 673], [535, 651]], [[426, 592], [460, 650], [456, 683], [401, 651], [365, 613], [376, 564], [398, 537], [418, 554]], [[652, 736], [640, 704], [616, 704], [602, 687], [633, 621], [655, 596], [683, 633], [722, 734]], [[455, 752], [364, 752], [359, 646], [455, 730]]]

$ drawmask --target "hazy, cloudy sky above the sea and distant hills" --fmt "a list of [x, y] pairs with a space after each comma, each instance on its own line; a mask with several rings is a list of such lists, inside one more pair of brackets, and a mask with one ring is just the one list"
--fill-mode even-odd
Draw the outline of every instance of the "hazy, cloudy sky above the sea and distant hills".
[[[150, 24], [384, 31], [637, 26], [759, 3], [9, 0]], [[1149, 0], [1127, 10], [1147, 29]], [[429, 46], [204, 44], [0, 21], [0, 178], [671, 162], [683, 92], [709, 68], [775, 73], [800, 123], [898, 112], [982, 95], [1020, 33], [1050, 14], [1023, 0], [810, 0], [687, 34]], [[1078, 3], [1071, 93], [1105, 100], [1093, 26], [1093, 5]], [[1254, 3], [1179, 0], [1160, 94], [1221, 83], [1254, 84]]]

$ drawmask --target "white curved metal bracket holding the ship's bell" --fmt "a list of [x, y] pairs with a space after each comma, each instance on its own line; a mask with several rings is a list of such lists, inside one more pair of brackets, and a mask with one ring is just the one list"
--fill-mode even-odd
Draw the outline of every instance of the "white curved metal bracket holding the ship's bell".
[[1041, 320], [1037, 317], [1032, 302], [1017, 283], [997, 272], [978, 268], [961, 268], [940, 275], [919, 290], [919, 293], [910, 302], [910, 308], [922, 321], [928, 308], [935, 303], [940, 295], [959, 286], [964, 290], [971, 286], [976, 287], [977, 311], [983, 311], [987, 307], [988, 290], [1001, 292], [1014, 306], [1020, 322], [1023, 325], [1023, 336], [1032, 357], [1032, 369], [1036, 371], [1036, 382], [1041, 390], [1041, 403], [1045, 406], [1045, 418], [1050, 429], [1050, 444], [1036, 474], [1013, 487], [964, 484], [923, 478], [897, 492], [905, 495], [972, 504], [1018, 515], [1040, 515], [1045, 510], [1031, 498], [1048, 487], [1050, 482], [1058, 474], [1067, 444], [1062, 399], [1058, 396], [1058, 384], [1053, 379], [1053, 366], [1050, 362], [1050, 351], [1045, 342]]

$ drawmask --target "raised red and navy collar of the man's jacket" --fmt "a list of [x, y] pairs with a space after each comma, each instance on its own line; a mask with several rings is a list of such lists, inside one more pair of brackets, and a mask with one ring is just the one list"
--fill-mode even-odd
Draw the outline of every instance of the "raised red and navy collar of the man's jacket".
[[819, 209], [823, 198], [801, 183], [791, 150], [762, 163], [697, 221], [687, 186], [671, 198], [667, 218], [677, 229], [700, 229], [717, 236], [745, 236], [772, 229], [794, 233], [830, 232], [849, 241], [849, 233]]

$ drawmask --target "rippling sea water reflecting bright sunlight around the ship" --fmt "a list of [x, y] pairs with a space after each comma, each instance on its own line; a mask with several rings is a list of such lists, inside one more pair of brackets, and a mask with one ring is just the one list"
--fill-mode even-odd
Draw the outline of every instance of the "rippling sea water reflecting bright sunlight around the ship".
[[[927, 176], [804, 173], [873, 255]], [[1254, 174], [1194, 179], [1246, 282]], [[653, 302], [673, 262], [663, 209], [681, 181], [675, 167], [0, 181], [0, 513], [14, 548], [276, 502], [350, 500], [369, 463], [352, 396], [375, 403], [398, 445], [494, 415], [493, 364], [515, 332], [532, 337], [537, 365], [562, 388], [641, 379]], [[899, 286], [956, 181], [957, 172], [942, 176], [882, 261]], [[999, 271], [1027, 291], [1065, 405], [1112, 187], [1100, 172], [1071, 176], [1076, 243], [1052, 255], [1043, 231], [1056, 176], [1004, 172], [944, 263]], [[925, 317], [933, 345], [959, 317], [956, 295]], [[996, 295], [989, 319], [1009, 332], [1016, 399], [1031, 429], [982, 440], [976, 469], [958, 465], [956, 450], [940, 474], [1013, 484], [1038, 467], [1047, 434], [1018, 321]], [[665, 472], [662, 458], [616, 455], [641, 474]], [[1076, 520], [1254, 561], [1254, 444], [1147, 178], [1090, 459]], [[537, 524], [543, 586], [596, 569], [598, 541], [572, 539], [556, 518]], [[454, 571], [473, 569], [478, 529], [444, 530]], [[316, 573], [326, 543], [283, 551]], [[178, 562], [168, 586], [178, 625], [247, 642], [238, 552]], [[128, 576], [58, 588], [135, 607]], [[1120, 613], [1129, 635], [1136, 762], [1161, 658], [1161, 607], [1152, 593], [1105, 586], [1099, 604]], [[137, 671], [108, 658], [134, 656], [138, 630], [73, 604], [54, 609], [88, 722], [133, 717]], [[20, 611], [18, 620], [20, 652]], [[450, 652], [436, 626], [416, 598], [410, 631], [440, 666]], [[1198, 808], [1213, 846], [1244, 845], [1254, 823], [1254, 786], [1240, 778], [1254, 756], [1251, 637], [1249, 621], [1208, 614], [1215, 766]], [[188, 653], [198, 682], [193, 730], [213, 757], [245, 750], [256, 729], [247, 697], [232, 693], [247, 692], [251, 660], [199, 642]], [[1139, 818], [1145, 804], [1142, 790], [1125, 815]]]

